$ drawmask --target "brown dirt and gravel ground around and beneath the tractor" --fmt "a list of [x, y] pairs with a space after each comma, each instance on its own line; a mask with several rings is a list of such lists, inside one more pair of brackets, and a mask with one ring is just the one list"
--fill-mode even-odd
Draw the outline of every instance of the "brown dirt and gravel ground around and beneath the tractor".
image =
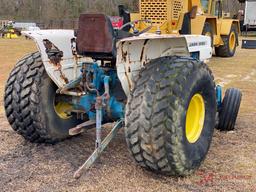
[[72, 175], [94, 149], [94, 130], [52, 145], [26, 142], [9, 126], [3, 109], [4, 86], [16, 61], [35, 50], [32, 41], [0, 39], [1, 191], [256, 191], [256, 51], [211, 59], [217, 83], [243, 91], [236, 130], [215, 131], [207, 159], [192, 176], [173, 178], [138, 167], [123, 132], [99, 163], [80, 180]]

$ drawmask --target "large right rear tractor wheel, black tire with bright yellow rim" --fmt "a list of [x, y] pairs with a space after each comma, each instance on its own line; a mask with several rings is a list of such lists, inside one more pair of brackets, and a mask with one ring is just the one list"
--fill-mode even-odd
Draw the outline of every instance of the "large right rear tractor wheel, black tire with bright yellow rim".
[[[199, 105], [193, 110], [192, 103]], [[215, 84], [206, 64], [190, 57], [152, 60], [140, 72], [128, 99], [129, 151], [148, 170], [189, 175], [209, 150], [216, 108]], [[194, 133], [189, 131], [192, 127]]]

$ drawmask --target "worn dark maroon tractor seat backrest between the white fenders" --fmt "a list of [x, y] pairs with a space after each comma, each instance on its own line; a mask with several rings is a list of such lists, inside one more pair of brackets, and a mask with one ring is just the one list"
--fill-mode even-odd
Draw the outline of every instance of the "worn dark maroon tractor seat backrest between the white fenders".
[[96, 60], [116, 58], [116, 37], [112, 23], [104, 14], [82, 14], [77, 31], [77, 52]]

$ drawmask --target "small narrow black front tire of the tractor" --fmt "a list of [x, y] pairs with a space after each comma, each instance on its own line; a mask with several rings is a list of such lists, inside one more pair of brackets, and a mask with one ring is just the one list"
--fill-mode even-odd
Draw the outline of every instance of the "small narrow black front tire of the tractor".
[[219, 124], [217, 128], [220, 131], [232, 131], [235, 129], [241, 101], [242, 93], [239, 89], [231, 88], [226, 91], [219, 111]]

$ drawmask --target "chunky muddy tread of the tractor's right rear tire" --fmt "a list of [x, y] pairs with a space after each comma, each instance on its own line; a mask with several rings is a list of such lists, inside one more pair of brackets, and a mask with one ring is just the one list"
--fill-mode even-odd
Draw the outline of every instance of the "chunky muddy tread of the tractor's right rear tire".
[[[183, 146], [175, 139], [182, 137], [182, 131], [175, 129], [180, 126], [175, 111], [184, 102], [182, 87], [186, 77], [199, 67], [214, 79], [206, 64], [190, 57], [158, 58], [141, 71], [128, 99], [125, 134], [132, 156], [142, 167], [168, 175], [193, 172], [186, 168]], [[141, 98], [144, 101], [134, 107], [133, 103]], [[169, 137], [172, 139], [168, 140]]]

